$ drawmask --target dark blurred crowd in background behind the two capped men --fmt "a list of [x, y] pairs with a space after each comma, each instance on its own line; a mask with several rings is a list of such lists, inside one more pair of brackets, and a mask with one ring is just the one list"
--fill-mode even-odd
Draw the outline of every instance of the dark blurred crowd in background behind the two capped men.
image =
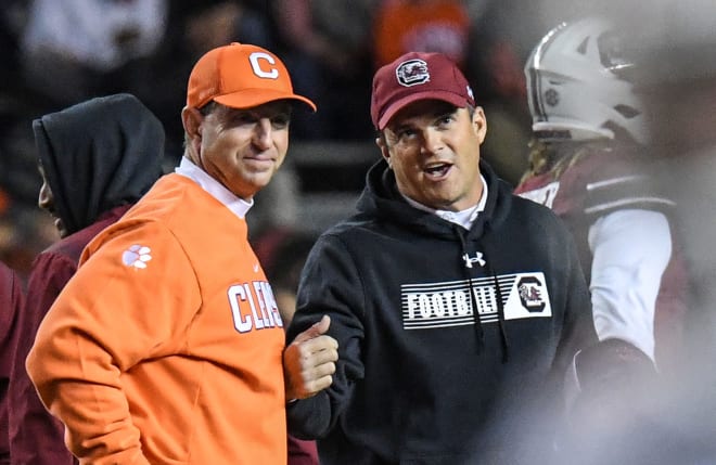
[[[461, 64], [489, 115], [484, 156], [504, 179], [516, 183], [526, 166], [529, 132], [524, 61], [542, 34], [557, 22], [594, 9], [588, 4], [559, 0], [3, 0], [0, 258], [24, 275], [37, 251], [56, 240], [50, 218], [36, 206], [40, 178], [30, 130], [34, 118], [91, 96], [133, 93], [165, 126], [169, 169], [182, 151], [178, 115], [191, 65], [208, 49], [231, 41], [265, 47], [284, 60], [294, 87], [319, 106], [316, 114], [303, 109], [294, 114], [292, 138], [314, 143], [372, 144], [372, 73], [409, 49], [442, 51]], [[292, 182], [290, 176], [283, 178]], [[304, 178], [293, 181], [315, 186], [330, 177]], [[362, 173], [358, 179], [362, 183]], [[272, 190], [281, 190], [281, 182]]]

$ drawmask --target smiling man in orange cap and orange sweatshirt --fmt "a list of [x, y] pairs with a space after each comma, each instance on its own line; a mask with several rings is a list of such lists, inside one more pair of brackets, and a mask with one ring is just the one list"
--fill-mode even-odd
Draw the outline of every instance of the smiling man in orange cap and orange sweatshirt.
[[285, 401], [332, 382], [324, 318], [287, 349], [247, 242], [253, 196], [285, 158], [293, 92], [271, 52], [232, 43], [195, 64], [186, 150], [85, 249], [27, 371], [81, 464], [285, 464]]

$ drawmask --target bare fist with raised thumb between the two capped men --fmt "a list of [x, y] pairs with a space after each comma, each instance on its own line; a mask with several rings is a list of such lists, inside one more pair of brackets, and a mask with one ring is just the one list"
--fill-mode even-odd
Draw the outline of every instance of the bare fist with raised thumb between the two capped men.
[[283, 352], [283, 373], [286, 400], [306, 399], [331, 386], [335, 362], [338, 360], [338, 343], [325, 335], [331, 318], [301, 333]]

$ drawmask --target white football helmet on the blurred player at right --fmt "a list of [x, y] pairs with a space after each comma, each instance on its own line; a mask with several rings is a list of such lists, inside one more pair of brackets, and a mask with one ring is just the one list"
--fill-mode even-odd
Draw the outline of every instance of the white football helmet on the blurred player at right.
[[602, 18], [562, 23], [533, 50], [527, 64], [532, 129], [542, 140], [614, 139], [624, 131], [644, 143], [642, 107], [623, 76], [630, 63]]

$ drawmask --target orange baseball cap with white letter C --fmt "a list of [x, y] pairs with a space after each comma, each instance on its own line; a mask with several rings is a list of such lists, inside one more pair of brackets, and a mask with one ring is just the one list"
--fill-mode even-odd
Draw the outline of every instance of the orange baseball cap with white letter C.
[[278, 56], [260, 47], [232, 42], [206, 52], [189, 75], [187, 106], [210, 101], [232, 108], [252, 108], [276, 100], [316, 104], [293, 92], [291, 76]]

